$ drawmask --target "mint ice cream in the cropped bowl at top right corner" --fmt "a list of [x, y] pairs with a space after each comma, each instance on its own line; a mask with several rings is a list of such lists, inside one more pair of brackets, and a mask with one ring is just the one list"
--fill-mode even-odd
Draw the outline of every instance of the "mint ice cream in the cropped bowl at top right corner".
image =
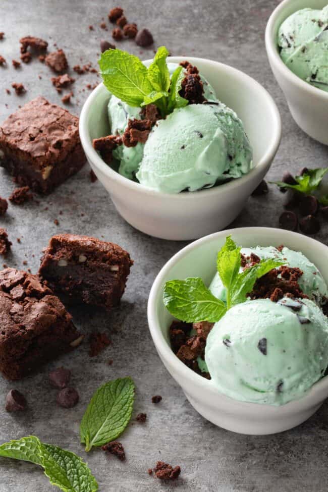
[[298, 77], [328, 92], [328, 5], [302, 9], [280, 26], [278, 46], [285, 65]]

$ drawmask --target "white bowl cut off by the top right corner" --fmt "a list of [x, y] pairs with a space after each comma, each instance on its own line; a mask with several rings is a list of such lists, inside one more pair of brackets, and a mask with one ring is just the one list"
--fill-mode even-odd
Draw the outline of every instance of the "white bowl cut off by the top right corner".
[[328, 92], [304, 82], [289, 70], [280, 58], [277, 46], [279, 27], [287, 17], [300, 9], [322, 9], [325, 5], [327, 0], [284, 0], [268, 20], [265, 46], [272, 72], [295, 122], [310, 137], [328, 145]]

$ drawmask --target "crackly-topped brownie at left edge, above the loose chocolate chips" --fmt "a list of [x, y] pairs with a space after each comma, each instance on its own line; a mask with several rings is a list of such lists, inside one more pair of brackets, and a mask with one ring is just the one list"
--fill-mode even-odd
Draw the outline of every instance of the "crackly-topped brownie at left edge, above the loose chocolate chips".
[[0, 271], [0, 370], [20, 379], [73, 350], [81, 339], [72, 316], [36, 275]]

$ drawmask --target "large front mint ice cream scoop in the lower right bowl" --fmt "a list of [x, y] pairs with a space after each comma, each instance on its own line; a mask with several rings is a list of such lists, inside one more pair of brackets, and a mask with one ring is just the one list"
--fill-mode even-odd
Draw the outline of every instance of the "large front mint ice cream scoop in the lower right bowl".
[[308, 299], [238, 304], [214, 324], [205, 362], [221, 393], [241, 401], [285, 404], [322, 377], [328, 364], [328, 319]]

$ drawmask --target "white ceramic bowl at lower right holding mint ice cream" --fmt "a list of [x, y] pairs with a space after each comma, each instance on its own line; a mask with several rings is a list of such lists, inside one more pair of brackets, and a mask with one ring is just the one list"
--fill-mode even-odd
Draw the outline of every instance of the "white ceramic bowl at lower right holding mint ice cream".
[[226, 236], [242, 246], [285, 246], [302, 251], [314, 262], [328, 282], [328, 247], [307, 236], [261, 227], [222, 231], [195, 241], [175, 256], [160, 270], [150, 291], [148, 323], [158, 355], [172, 377], [179, 383], [192, 406], [207, 420], [220, 427], [243, 434], [271, 434], [290, 429], [310, 417], [328, 396], [328, 376], [299, 400], [280, 407], [244, 403], [233, 400], [216, 390], [211, 382], [183, 364], [172, 352], [169, 326], [173, 317], [162, 301], [165, 282], [187, 277], [201, 277], [209, 284], [215, 273], [217, 251]]

